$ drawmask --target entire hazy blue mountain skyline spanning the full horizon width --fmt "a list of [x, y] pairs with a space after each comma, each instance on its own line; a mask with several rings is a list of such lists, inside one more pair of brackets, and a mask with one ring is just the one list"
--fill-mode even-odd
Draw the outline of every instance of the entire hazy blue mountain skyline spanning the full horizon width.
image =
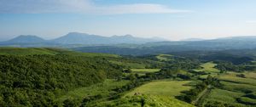
[[[70, 32], [63, 37], [58, 37], [52, 40], [45, 40], [41, 37], [32, 35], [19, 36], [9, 41], [0, 42], [0, 46], [64, 48], [79, 47], [80, 51], [97, 53], [103, 53], [102, 51], [108, 52], [110, 49], [117, 52], [137, 49], [136, 51], [140, 51], [139, 53], [146, 53], [149, 50], [150, 52], [154, 51], [155, 53], [158, 53], [162, 51], [225, 50], [241, 48], [251, 49], [256, 48], [256, 37], [225, 37], [212, 40], [193, 38], [183, 41], [166, 41], [157, 37], [140, 38], [133, 37], [131, 35], [104, 37], [99, 35], [90, 35], [87, 33]], [[106, 50], [106, 48], [108, 48], [108, 50]]]

